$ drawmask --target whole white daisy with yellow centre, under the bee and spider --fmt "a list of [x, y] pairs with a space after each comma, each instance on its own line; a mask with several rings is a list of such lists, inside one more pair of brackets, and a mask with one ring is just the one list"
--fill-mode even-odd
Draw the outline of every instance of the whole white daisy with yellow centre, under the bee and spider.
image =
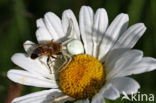
[[105, 103], [104, 98], [115, 100], [123, 92], [136, 93], [140, 85], [127, 76], [156, 69], [156, 59], [143, 57], [142, 51], [132, 49], [146, 27], [137, 23], [128, 28], [128, 21], [128, 15], [121, 13], [108, 25], [106, 10], [100, 8], [94, 13], [89, 6], [81, 7], [79, 24], [71, 10], [63, 12], [62, 20], [52, 12], [46, 13], [37, 20], [37, 40], [40, 44], [52, 39], [62, 44], [68, 41], [64, 47], [70, 62], [55, 73], [53, 65], [51, 70], [47, 66], [47, 56], [33, 60], [29, 54], [34, 45], [24, 45], [27, 54], [16, 53], [11, 58], [24, 70], [9, 70], [8, 78], [23, 85], [50, 89], [12, 102]]

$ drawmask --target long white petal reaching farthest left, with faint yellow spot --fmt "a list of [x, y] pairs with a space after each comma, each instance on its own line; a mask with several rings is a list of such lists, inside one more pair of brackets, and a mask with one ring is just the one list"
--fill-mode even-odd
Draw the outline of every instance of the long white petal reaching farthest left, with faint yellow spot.
[[57, 84], [54, 79], [48, 80], [39, 75], [32, 74], [23, 70], [9, 70], [7, 74], [8, 78], [12, 81], [24, 85], [44, 87], [44, 88], [57, 88]]

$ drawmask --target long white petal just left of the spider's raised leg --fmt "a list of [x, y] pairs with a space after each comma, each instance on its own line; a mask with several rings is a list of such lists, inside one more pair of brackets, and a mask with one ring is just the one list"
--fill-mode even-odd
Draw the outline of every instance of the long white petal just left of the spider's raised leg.
[[65, 36], [60, 18], [52, 12], [48, 12], [44, 16], [44, 21], [50, 35], [54, 40], [58, 40]]

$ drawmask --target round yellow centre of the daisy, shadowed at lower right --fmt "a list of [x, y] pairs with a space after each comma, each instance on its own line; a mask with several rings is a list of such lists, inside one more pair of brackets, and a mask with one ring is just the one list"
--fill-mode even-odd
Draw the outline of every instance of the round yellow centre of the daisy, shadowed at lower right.
[[105, 82], [104, 68], [93, 56], [80, 54], [60, 72], [60, 88], [75, 99], [93, 97]]

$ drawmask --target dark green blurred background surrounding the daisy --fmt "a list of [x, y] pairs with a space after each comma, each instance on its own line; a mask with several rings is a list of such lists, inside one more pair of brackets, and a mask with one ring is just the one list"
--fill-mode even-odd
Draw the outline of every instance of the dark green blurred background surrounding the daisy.
[[[135, 48], [143, 50], [145, 56], [156, 58], [156, 0], [0, 0], [0, 103], [10, 103], [16, 96], [41, 90], [15, 84], [6, 77], [9, 69], [18, 68], [10, 57], [16, 52], [24, 52], [23, 42], [26, 40], [36, 42], [36, 19], [48, 11], [61, 17], [65, 9], [72, 9], [78, 17], [82, 5], [91, 6], [94, 11], [105, 8], [110, 22], [119, 13], [127, 13], [129, 26], [145, 23], [147, 31]], [[156, 98], [156, 70], [132, 77], [140, 83], [140, 93], [152, 93]], [[121, 98], [107, 102], [121, 103]], [[127, 100], [122, 102], [139, 103]]]

